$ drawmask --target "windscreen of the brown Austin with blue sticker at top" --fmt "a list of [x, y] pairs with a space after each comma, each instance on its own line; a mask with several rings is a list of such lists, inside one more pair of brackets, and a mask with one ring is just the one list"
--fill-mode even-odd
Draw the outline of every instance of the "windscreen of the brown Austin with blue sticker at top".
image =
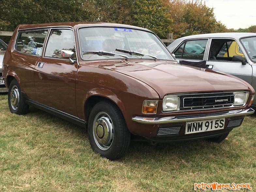
[[[120, 54], [129, 59], [152, 59], [150, 56], [153, 56], [157, 59], [174, 60], [158, 37], [147, 31], [133, 28], [87, 27], [79, 29], [78, 34], [84, 60], [123, 59]], [[95, 53], [99, 51], [114, 54]]]

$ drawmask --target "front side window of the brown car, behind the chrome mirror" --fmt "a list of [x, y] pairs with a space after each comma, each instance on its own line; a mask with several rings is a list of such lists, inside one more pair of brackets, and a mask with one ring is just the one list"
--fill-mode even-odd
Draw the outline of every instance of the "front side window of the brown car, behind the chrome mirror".
[[61, 50], [68, 50], [75, 53], [74, 34], [70, 29], [53, 29], [51, 31], [44, 56], [60, 58]]

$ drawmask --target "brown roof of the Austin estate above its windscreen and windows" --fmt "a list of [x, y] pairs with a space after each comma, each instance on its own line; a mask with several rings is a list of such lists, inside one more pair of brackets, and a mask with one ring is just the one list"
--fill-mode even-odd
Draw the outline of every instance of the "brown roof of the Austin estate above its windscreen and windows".
[[[73, 27], [77, 29], [78, 27], [88, 27], [88, 26], [115, 26], [115, 27], [125, 27], [125, 28], [137, 28], [147, 30], [141, 27], [136, 27], [132, 25], [124, 25], [117, 23], [103, 23], [103, 22], [57, 22], [57, 23], [40, 23], [40, 24], [20, 24], [18, 25], [18, 30], [23, 29], [33, 29], [33, 28], [46, 28], [46, 27]], [[149, 30], [147, 30], [149, 31]]]

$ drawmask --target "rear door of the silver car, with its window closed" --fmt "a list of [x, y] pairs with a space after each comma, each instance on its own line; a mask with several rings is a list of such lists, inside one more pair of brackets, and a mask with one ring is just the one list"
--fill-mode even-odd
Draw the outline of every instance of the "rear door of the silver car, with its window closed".
[[205, 68], [207, 44], [208, 39], [186, 40], [173, 53], [180, 64]]

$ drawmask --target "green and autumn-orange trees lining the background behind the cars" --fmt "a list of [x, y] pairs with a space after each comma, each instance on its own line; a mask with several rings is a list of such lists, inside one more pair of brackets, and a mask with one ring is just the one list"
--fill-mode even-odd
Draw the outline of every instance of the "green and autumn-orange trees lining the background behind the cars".
[[[160, 38], [229, 32], [201, 0], [2, 0], [0, 30], [47, 22], [113, 22], [144, 27]], [[239, 29], [237, 31], [244, 31]], [[255, 26], [247, 29], [256, 31]]]

